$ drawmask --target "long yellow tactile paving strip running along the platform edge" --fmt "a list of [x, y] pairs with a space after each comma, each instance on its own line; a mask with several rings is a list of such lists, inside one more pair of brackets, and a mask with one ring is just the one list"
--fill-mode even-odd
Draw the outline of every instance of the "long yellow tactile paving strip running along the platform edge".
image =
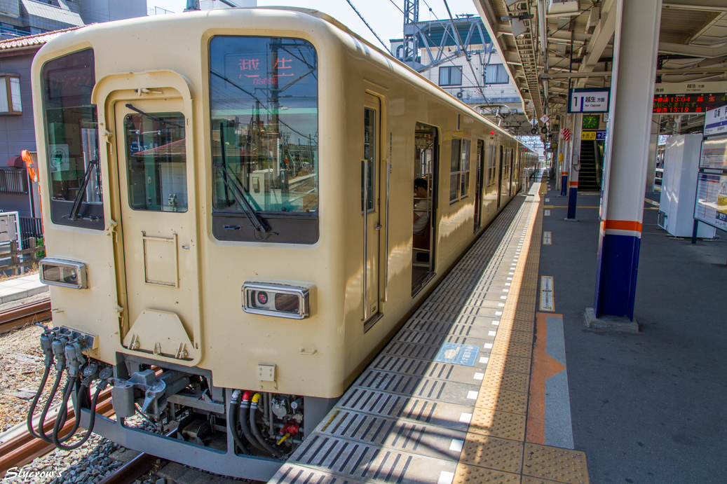
[[523, 236], [509, 296], [453, 484], [587, 484], [585, 453], [524, 443], [542, 237], [542, 196]]

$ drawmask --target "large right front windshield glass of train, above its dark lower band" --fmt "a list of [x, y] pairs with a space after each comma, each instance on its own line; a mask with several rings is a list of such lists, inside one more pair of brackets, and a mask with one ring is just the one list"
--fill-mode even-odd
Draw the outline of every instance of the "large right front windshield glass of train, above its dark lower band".
[[[215, 37], [209, 44], [212, 164], [255, 211], [318, 211], [318, 61], [300, 39]], [[217, 211], [244, 213], [213, 170]]]

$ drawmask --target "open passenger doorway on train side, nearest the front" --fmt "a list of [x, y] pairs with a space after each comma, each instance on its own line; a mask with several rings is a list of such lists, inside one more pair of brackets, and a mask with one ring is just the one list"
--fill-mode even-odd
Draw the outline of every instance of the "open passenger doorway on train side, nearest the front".
[[411, 249], [411, 295], [434, 276], [437, 220], [437, 129], [417, 123], [414, 129], [414, 225]]

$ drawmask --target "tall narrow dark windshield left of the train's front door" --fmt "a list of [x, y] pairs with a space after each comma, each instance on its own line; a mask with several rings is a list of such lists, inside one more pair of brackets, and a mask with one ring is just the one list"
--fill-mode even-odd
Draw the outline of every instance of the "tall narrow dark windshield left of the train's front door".
[[103, 230], [95, 83], [93, 49], [49, 60], [41, 70], [52, 222]]

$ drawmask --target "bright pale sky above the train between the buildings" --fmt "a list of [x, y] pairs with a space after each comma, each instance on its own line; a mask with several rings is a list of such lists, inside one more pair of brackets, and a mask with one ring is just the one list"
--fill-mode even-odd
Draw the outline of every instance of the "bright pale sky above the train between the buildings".
[[[403, 0], [350, 0], [354, 7], [361, 12], [366, 22], [389, 48], [389, 39], [401, 39], [403, 13]], [[426, 1], [426, 3], [425, 3]], [[474, 0], [447, 0], [453, 16], [457, 14], [475, 14]], [[187, 5], [186, 0], [147, 0], [147, 7], [161, 7], [172, 12], [182, 12]], [[427, 7], [427, 4], [429, 7]], [[350, 30], [358, 33], [364, 39], [381, 47], [369, 28], [356, 15], [356, 12], [346, 0], [257, 0], [258, 7], [287, 6], [316, 9], [325, 12], [346, 25]], [[397, 9], [396, 7], [399, 7]], [[432, 11], [430, 12], [430, 7]], [[449, 18], [444, 0], [419, 0], [419, 21]]]

